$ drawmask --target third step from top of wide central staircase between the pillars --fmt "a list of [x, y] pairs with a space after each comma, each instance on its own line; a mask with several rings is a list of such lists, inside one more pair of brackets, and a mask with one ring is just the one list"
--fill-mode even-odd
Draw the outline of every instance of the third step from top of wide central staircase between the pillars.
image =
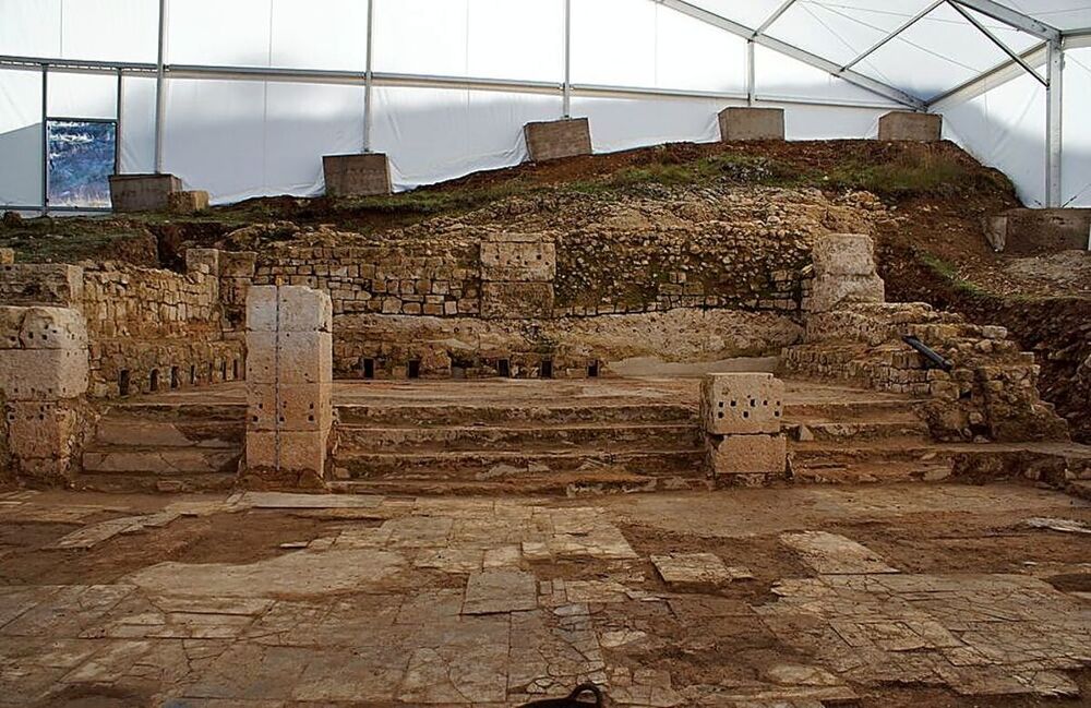
[[571, 472], [627, 472], [644, 477], [705, 476], [705, 451], [537, 451], [423, 454], [338, 449], [335, 469], [355, 480], [508, 481]]

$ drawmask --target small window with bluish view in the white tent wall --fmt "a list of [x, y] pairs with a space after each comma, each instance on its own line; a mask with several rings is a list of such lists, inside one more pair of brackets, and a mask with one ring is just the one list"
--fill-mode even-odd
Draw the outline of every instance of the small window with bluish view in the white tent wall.
[[117, 132], [113, 120], [46, 120], [47, 196], [51, 206], [110, 206]]

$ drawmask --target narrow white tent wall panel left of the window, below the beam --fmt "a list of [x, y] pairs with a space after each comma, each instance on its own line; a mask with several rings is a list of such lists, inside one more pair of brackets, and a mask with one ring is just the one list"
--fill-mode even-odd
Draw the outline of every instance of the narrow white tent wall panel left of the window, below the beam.
[[41, 72], [0, 69], [0, 204], [41, 204]]

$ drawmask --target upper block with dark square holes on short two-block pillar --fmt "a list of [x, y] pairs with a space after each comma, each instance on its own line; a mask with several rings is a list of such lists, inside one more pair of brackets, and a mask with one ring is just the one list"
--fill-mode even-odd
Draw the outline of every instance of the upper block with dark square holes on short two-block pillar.
[[702, 382], [700, 412], [706, 433], [779, 433], [784, 382], [768, 373], [709, 374]]

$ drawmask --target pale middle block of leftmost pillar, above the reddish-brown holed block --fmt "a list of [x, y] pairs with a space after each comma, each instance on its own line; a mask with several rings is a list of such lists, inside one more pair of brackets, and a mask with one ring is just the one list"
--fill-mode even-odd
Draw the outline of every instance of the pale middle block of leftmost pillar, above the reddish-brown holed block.
[[86, 349], [0, 350], [0, 394], [8, 400], [57, 400], [87, 392]]

